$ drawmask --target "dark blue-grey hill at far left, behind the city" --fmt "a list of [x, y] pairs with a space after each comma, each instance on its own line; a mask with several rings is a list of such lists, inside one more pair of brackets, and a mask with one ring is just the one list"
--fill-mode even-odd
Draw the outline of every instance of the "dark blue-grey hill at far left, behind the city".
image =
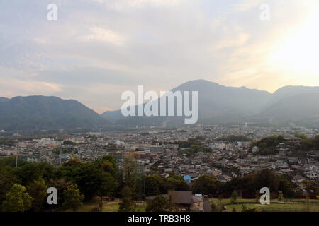
[[0, 98], [0, 130], [96, 129], [107, 123], [76, 100], [45, 96]]

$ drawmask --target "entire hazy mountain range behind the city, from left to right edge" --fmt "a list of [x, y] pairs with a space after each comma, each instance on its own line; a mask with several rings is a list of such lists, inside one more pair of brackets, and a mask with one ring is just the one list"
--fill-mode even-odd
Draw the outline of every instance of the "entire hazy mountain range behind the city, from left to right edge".
[[[198, 124], [319, 126], [319, 87], [285, 86], [269, 93], [196, 80], [172, 89], [177, 90], [198, 91]], [[123, 117], [121, 109], [97, 114], [76, 100], [59, 97], [0, 97], [0, 131], [163, 124], [184, 124], [184, 117]]]

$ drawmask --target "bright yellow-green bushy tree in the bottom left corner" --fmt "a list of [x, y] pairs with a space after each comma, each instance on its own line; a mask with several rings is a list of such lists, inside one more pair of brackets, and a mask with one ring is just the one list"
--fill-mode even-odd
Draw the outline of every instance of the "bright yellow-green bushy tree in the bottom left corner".
[[33, 198], [29, 196], [26, 187], [13, 184], [2, 206], [4, 212], [25, 212], [32, 206], [32, 201]]

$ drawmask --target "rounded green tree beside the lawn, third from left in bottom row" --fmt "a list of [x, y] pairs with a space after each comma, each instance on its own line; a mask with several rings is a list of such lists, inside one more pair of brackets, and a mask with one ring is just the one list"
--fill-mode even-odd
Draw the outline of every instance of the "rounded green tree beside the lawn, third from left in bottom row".
[[63, 192], [63, 198], [65, 201], [62, 203], [62, 208], [65, 210], [71, 208], [75, 212], [83, 205], [84, 195], [80, 193], [77, 184], [72, 184]]

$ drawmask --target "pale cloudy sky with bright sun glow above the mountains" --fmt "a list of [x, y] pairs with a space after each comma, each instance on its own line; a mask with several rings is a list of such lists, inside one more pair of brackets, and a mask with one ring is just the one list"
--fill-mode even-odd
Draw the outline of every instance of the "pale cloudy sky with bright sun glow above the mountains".
[[138, 85], [317, 86], [318, 23], [318, 0], [0, 1], [0, 97], [53, 95], [102, 113]]

